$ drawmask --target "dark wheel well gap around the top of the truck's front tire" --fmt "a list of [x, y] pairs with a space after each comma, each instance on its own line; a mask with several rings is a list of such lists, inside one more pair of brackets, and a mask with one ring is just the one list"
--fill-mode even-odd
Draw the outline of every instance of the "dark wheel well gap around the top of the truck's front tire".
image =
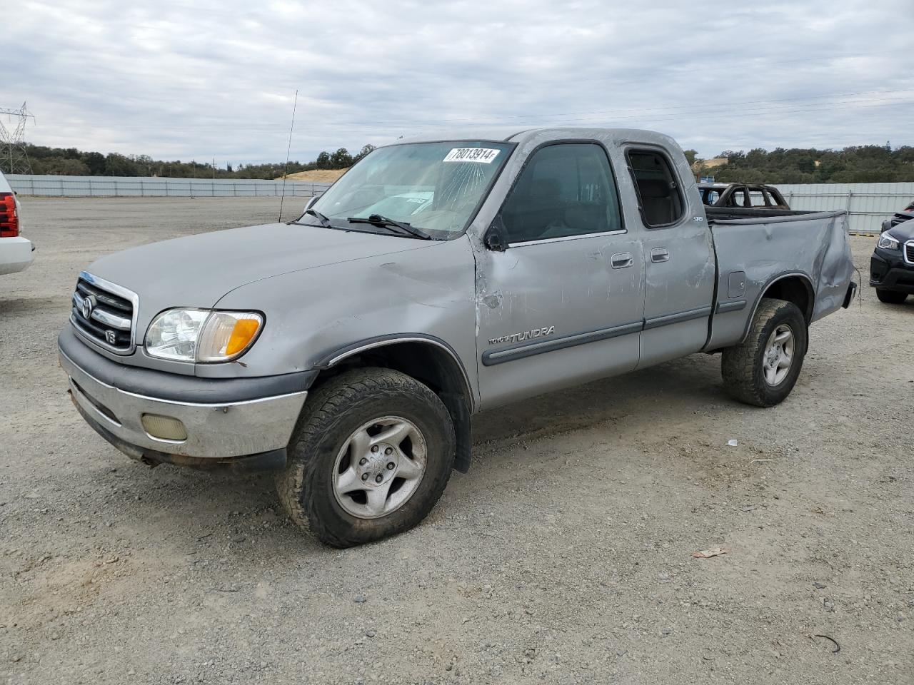
[[430, 342], [391, 341], [381, 347], [354, 353], [321, 371], [312, 388], [324, 384], [342, 371], [364, 366], [379, 366], [407, 374], [428, 385], [447, 407], [457, 437], [454, 468], [466, 473], [470, 469], [473, 413], [473, 390], [460, 363], [443, 348]]

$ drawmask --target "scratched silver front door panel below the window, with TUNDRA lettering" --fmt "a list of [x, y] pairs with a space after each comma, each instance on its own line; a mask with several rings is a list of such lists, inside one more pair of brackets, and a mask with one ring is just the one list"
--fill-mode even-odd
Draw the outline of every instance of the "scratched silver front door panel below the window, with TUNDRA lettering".
[[[622, 266], [626, 254], [632, 263]], [[484, 408], [625, 373], [638, 363], [644, 271], [639, 239], [574, 237], [486, 250], [477, 259]]]

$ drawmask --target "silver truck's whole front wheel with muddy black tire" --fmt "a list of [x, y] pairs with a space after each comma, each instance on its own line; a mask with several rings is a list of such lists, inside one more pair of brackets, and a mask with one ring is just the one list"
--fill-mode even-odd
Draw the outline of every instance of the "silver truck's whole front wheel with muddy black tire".
[[347, 371], [309, 395], [277, 490], [321, 542], [369, 543], [425, 518], [455, 445], [451, 415], [427, 385], [389, 369]]

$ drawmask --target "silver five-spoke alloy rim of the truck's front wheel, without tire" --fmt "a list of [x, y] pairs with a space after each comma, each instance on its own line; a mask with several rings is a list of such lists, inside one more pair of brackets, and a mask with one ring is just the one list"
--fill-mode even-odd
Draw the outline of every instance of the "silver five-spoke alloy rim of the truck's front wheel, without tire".
[[397, 511], [419, 489], [428, 463], [425, 437], [402, 416], [381, 416], [349, 434], [336, 454], [336, 502], [359, 519]]

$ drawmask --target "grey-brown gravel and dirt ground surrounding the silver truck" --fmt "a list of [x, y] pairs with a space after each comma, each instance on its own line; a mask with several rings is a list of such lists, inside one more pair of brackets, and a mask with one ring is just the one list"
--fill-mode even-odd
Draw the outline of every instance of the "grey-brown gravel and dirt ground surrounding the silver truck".
[[340, 552], [269, 477], [122, 456], [57, 364], [92, 259], [277, 206], [25, 199], [37, 260], [0, 279], [0, 680], [914, 683], [914, 299], [865, 287], [815, 325], [771, 409], [696, 355], [479, 416], [426, 522]]

